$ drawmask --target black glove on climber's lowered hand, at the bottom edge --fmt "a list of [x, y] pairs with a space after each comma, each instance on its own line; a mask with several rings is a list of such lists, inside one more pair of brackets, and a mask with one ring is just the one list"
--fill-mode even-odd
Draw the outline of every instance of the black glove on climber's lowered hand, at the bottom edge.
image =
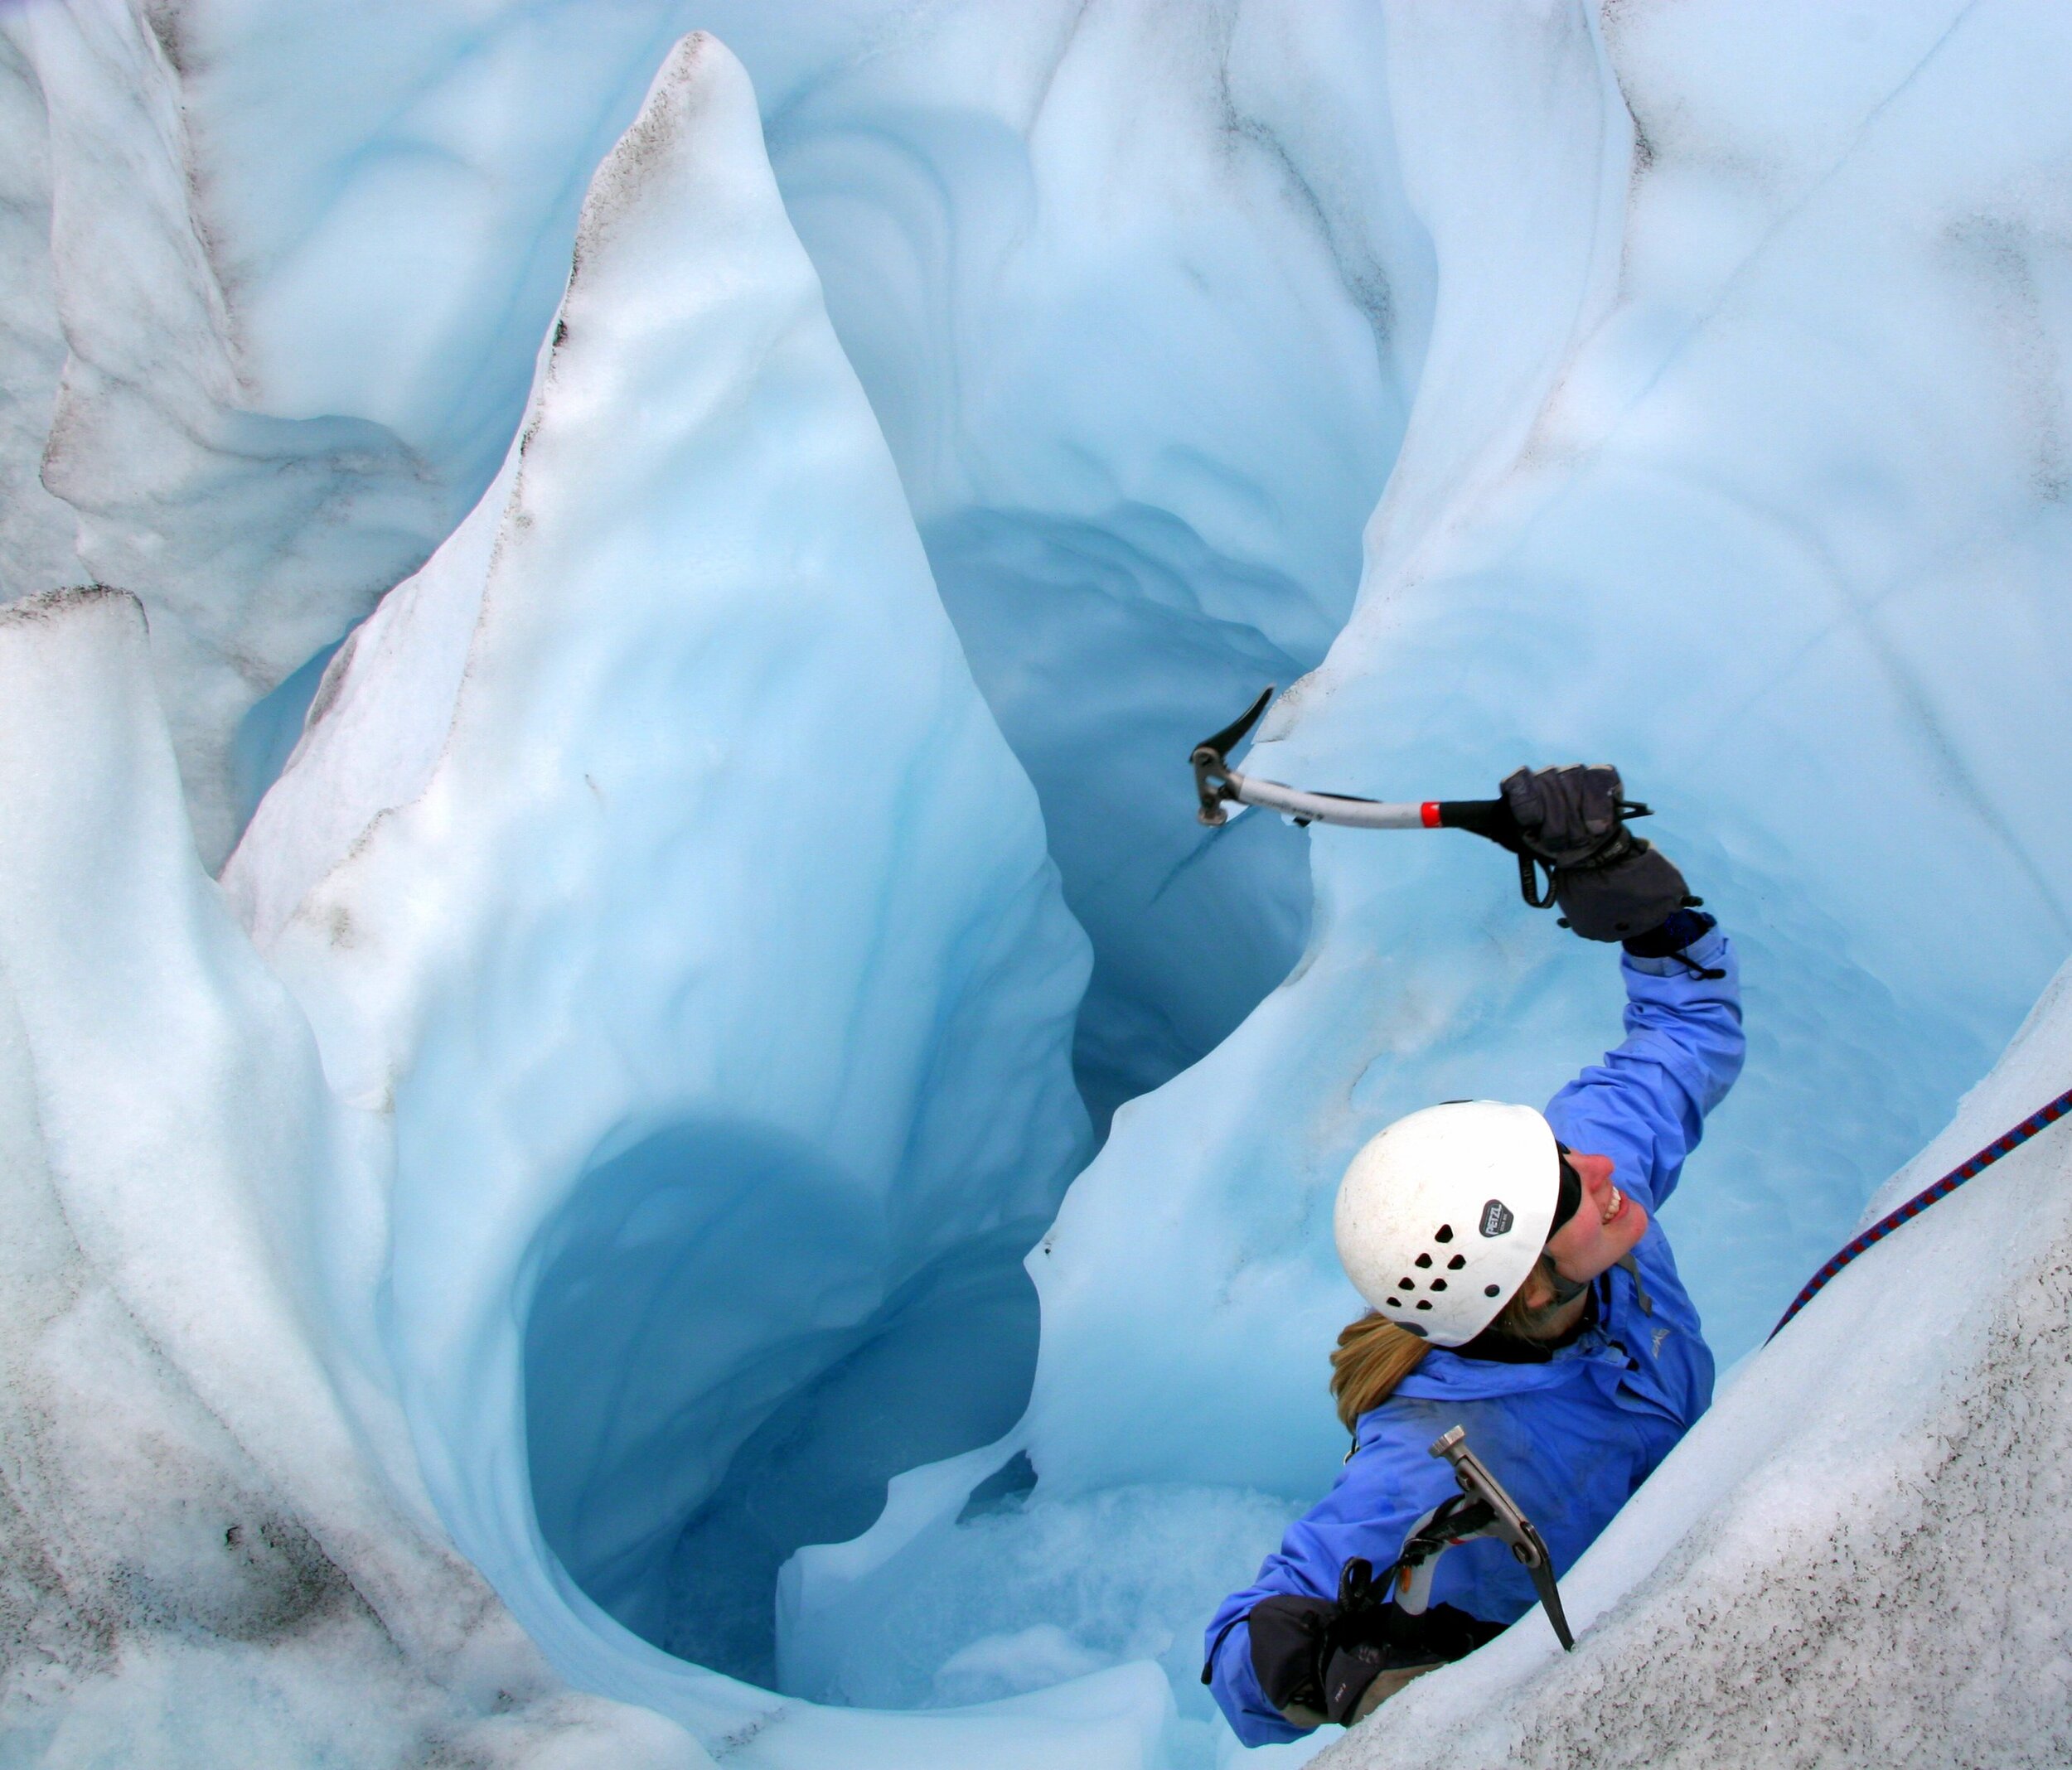
[[1251, 1675], [1291, 1724], [1351, 1726], [1419, 1673], [1467, 1658], [1504, 1631], [1452, 1604], [1409, 1617], [1374, 1590], [1370, 1565], [1353, 1559], [1336, 1604], [1274, 1596], [1251, 1606]]

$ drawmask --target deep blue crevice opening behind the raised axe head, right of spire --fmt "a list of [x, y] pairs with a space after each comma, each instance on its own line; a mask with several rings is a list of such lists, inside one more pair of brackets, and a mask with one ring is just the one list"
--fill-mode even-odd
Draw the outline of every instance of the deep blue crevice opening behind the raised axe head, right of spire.
[[1185, 759], [1322, 653], [1268, 638], [1274, 613], [1303, 607], [1297, 582], [1216, 553], [1167, 510], [1098, 524], [961, 510], [922, 539], [1094, 943], [1073, 1067], [1102, 1138], [1117, 1107], [1208, 1055], [1301, 953], [1305, 837], [1266, 817], [1200, 827]]

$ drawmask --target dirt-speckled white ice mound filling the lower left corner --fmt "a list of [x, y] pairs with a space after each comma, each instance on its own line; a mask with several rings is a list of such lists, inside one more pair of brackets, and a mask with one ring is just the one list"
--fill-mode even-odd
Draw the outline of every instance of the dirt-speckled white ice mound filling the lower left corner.
[[435, 1519], [383, 1138], [195, 864], [131, 597], [0, 609], [0, 752], [8, 1760], [700, 1762]]

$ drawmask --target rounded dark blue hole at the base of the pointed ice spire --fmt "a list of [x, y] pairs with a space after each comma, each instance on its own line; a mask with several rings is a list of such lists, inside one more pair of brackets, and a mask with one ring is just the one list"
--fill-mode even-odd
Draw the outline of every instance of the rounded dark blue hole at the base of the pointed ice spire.
[[773, 1685], [779, 1565], [856, 1536], [891, 1476], [999, 1436], [1026, 1405], [1021, 1256], [1042, 1227], [974, 1235], [872, 1306], [858, 1291], [895, 1258], [889, 1225], [812, 1150], [682, 1123], [605, 1154], [535, 1256], [524, 1368], [547, 1544], [636, 1633]]

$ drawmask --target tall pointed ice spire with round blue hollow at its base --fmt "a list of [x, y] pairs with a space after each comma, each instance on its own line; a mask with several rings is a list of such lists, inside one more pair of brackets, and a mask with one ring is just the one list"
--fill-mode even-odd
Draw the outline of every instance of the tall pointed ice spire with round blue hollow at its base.
[[[1024, 1405], [1086, 949], [715, 39], [226, 885], [394, 1119], [385, 1333], [456, 1540], [572, 1673], [727, 1737], [762, 1700], [634, 1635], [769, 1683], [779, 1563]], [[1164, 1706], [1109, 1689], [1092, 1753]]]

